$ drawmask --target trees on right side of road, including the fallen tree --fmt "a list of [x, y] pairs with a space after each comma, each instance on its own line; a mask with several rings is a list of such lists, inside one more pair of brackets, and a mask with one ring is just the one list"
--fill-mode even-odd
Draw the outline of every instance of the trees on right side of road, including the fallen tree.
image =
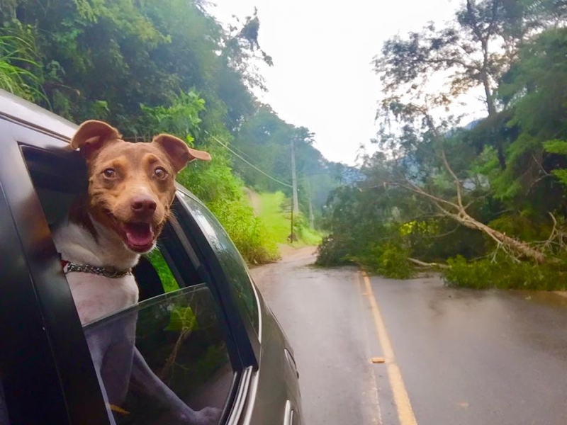
[[[444, 263], [454, 285], [565, 289], [566, 11], [467, 0], [444, 28], [384, 43], [380, 150], [332, 194], [320, 263], [391, 277]], [[438, 75], [447, 92], [430, 91]], [[463, 127], [448, 113], [476, 86], [487, 117]]]

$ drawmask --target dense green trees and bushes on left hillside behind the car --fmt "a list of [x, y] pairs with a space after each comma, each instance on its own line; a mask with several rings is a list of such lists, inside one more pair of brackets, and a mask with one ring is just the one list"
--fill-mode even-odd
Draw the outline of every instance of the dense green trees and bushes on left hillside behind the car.
[[[300, 182], [308, 179], [303, 164], [324, 163], [315, 171], [330, 171], [308, 130], [271, 111], [281, 137], [267, 148], [264, 140], [247, 140], [263, 131], [259, 117], [269, 110], [252, 93], [265, 89], [257, 62], [272, 60], [258, 44], [255, 13], [226, 28], [206, 6], [201, 0], [0, 0], [0, 88], [76, 123], [106, 120], [125, 140], [168, 132], [210, 152], [210, 164], [190, 164], [179, 181], [217, 215], [247, 261], [262, 263], [278, 256], [279, 241], [254, 216], [244, 185], [291, 193], [233, 163], [221, 144], [259, 153], [254, 164], [290, 181], [289, 161], [262, 159], [288, 159], [289, 138], [297, 137]], [[327, 176], [327, 186], [318, 187], [328, 192], [331, 184]], [[302, 191], [304, 215], [310, 198]]]

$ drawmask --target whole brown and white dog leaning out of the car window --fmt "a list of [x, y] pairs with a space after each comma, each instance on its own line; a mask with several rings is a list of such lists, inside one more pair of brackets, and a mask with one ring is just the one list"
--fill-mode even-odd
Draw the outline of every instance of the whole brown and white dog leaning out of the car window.
[[[150, 143], [121, 140], [116, 128], [96, 120], [83, 123], [71, 140], [88, 169], [88, 196], [53, 232], [57, 251], [82, 324], [134, 305], [138, 288], [130, 269], [151, 251], [170, 215], [176, 174], [193, 159], [210, 155], [172, 135]], [[169, 410], [172, 422], [209, 424], [218, 409], [195, 412], [157, 378], [134, 346], [135, 319], [86, 334], [108, 406], [120, 406], [128, 383], [145, 388]], [[109, 408], [110, 412], [110, 408]]]

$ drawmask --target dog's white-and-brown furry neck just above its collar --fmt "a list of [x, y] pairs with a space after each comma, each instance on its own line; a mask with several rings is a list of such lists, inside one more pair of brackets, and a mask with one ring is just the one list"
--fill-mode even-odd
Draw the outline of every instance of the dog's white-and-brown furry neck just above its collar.
[[67, 217], [54, 230], [53, 240], [62, 259], [72, 263], [127, 270], [140, 259], [113, 230], [96, 222], [88, 213], [81, 221]]

